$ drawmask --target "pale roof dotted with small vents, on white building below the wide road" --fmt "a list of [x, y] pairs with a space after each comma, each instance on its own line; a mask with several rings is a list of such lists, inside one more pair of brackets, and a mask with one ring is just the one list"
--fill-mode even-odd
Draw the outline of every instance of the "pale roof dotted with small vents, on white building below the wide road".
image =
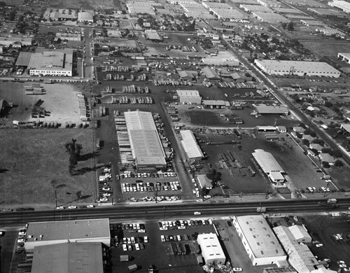
[[286, 255], [263, 216], [251, 215], [238, 216], [236, 218], [255, 258]]

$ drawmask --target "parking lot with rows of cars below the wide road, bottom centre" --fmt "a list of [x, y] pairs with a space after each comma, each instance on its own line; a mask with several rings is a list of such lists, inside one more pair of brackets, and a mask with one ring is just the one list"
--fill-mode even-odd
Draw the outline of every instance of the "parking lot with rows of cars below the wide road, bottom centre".
[[[144, 230], [141, 229], [141, 232], [137, 229], [137, 226], [131, 228], [130, 223], [113, 225], [113, 236], [118, 236], [118, 246], [112, 249], [113, 272], [127, 272], [128, 265], [137, 264], [143, 271], [146, 271], [149, 265], [155, 265], [155, 269], [160, 272], [202, 273], [202, 267], [197, 264], [196, 260], [195, 238], [198, 233], [215, 232], [213, 226], [208, 225], [209, 221], [207, 219], [205, 219], [207, 221], [204, 221], [206, 225], [203, 225], [202, 221], [202, 225], [200, 225], [199, 220], [196, 219], [197, 225], [193, 226], [190, 219], [187, 219], [187, 225], [183, 221], [181, 222], [183, 225], [181, 225], [180, 221], [176, 222], [176, 216], [168, 217], [169, 215], [165, 212], [165, 221], [162, 221], [162, 223], [165, 226], [173, 225], [172, 227], [169, 226], [167, 230], [160, 230], [158, 223], [139, 223], [139, 225], [145, 224], [144, 227], [140, 227], [144, 228]], [[195, 223], [195, 219], [193, 219], [193, 223]], [[134, 222], [131, 224], [136, 225]], [[123, 246], [125, 241], [127, 243], [126, 251], [123, 250], [125, 249], [125, 246]], [[170, 249], [172, 242], [183, 245], [186, 254], [172, 254]], [[139, 244], [139, 246], [135, 246], [135, 244]], [[139, 248], [140, 250], [137, 250]], [[120, 262], [120, 255], [129, 255], [130, 261]]]

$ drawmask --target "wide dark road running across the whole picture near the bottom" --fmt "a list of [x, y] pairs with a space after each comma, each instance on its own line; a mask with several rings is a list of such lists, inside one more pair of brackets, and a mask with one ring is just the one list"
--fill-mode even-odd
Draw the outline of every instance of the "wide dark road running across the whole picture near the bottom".
[[[275, 202], [223, 203], [205, 204], [183, 203], [176, 206], [159, 203], [157, 206], [144, 207], [97, 207], [95, 209], [72, 209], [66, 211], [25, 211], [3, 213], [0, 216], [0, 228], [10, 225], [20, 225], [33, 221], [63, 221], [92, 218], [109, 218], [110, 221], [154, 221], [162, 219], [194, 217], [194, 211], [200, 211], [198, 217], [219, 217], [231, 215], [257, 214], [256, 208], [263, 206], [268, 213], [293, 214], [328, 211], [328, 207], [318, 206], [318, 201], [323, 200], [283, 200]], [[339, 207], [332, 211], [346, 211], [350, 207], [350, 198], [338, 200]]]

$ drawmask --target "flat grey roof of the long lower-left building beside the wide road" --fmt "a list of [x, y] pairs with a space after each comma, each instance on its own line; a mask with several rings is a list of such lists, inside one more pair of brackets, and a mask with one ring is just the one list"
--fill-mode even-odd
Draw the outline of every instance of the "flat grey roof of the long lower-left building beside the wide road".
[[26, 241], [110, 237], [109, 219], [28, 223]]

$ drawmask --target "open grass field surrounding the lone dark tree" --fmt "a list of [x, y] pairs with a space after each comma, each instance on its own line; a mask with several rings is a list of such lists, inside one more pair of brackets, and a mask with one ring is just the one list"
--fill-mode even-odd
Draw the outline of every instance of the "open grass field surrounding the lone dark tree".
[[[79, 175], [68, 172], [69, 155], [64, 144], [71, 139], [82, 144]], [[0, 200], [8, 204], [55, 203], [96, 199], [91, 130], [0, 130]], [[55, 187], [54, 187], [55, 186]]]

